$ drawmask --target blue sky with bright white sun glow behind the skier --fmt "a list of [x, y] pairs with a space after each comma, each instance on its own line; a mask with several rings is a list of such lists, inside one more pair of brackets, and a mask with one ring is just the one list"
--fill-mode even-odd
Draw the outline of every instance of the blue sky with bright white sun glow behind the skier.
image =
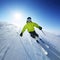
[[59, 0], [0, 0], [0, 21], [21, 27], [29, 16], [44, 30], [60, 34]]

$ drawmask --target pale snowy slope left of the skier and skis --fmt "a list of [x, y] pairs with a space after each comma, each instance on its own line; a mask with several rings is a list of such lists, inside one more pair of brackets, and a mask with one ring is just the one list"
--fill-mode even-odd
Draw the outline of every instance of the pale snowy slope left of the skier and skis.
[[21, 38], [17, 31], [14, 25], [0, 22], [0, 60], [49, 60], [34, 39]]

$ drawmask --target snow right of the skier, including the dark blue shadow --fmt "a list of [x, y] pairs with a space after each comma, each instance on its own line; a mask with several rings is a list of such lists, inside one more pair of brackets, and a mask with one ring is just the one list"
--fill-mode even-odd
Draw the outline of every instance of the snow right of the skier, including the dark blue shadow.
[[60, 60], [60, 37], [58, 37], [55, 34], [49, 33], [44, 31], [42, 33], [41, 31], [36, 31], [40, 38], [49, 46], [49, 48], [46, 48], [43, 44], [44, 49], [48, 52], [48, 57], [51, 60]]

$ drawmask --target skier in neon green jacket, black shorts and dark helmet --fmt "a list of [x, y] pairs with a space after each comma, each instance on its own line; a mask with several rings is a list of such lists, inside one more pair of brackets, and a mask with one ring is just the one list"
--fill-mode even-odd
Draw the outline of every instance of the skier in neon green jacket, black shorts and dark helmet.
[[[31, 36], [32, 38], [36, 39], [36, 41], [39, 43], [38, 40], [41, 40], [41, 41], [42, 41], [42, 39], [39, 38], [39, 35], [35, 32], [34, 27], [42, 30], [42, 27], [41, 27], [41, 26], [39, 26], [39, 25], [38, 25], [37, 23], [35, 23], [35, 22], [32, 22], [31, 17], [28, 17], [28, 18], [27, 18], [26, 25], [23, 27], [23, 29], [22, 29], [22, 31], [21, 31], [21, 33], [20, 33], [20, 36], [22, 37], [24, 31], [27, 29], [27, 31], [29, 32], [30, 36]], [[43, 41], [42, 41], [42, 42], [43, 42]], [[43, 42], [43, 43], [44, 43], [44, 42]]]

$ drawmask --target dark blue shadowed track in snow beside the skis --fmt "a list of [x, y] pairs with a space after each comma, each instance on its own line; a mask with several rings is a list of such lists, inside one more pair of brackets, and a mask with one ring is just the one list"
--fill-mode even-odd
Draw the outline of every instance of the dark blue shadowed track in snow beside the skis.
[[57, 53], [57, 51], [50, 45], [49, 48], [47, 48], [45, 46], [45, 44], [43, 44], [41, 41], [40, 41], [40, 45], [48, 52], [48, 57], [51, 59], [51, 60], [60, 60], [60, 54]]

